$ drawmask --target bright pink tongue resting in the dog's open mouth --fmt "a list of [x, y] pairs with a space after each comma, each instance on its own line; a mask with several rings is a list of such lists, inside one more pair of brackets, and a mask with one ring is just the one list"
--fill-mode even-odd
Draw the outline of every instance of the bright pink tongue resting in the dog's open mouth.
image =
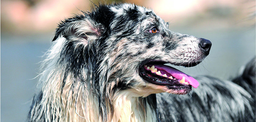
[[191, 77], [191, 76], [183, 73], [182, 71], [177, 70], [171, 66], [166, 66], [166, 65], [162, 65], [162, 64], [157, 64], [154, 66], [155, 66], [155, 68], [157, 68], [159, 70], [165, 70], [166, 72], [171, 74], [176, 79], [182, 79], [182, 77], [185, 77], [185, 82], [188, 82], [194, 88], [197, 88], [199, 85], [199, 83], [196, 79], [194, 79], [193, 77]]

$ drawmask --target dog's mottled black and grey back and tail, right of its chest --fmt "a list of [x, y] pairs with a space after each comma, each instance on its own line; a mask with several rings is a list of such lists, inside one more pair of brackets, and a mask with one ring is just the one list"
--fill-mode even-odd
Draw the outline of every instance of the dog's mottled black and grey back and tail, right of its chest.
[[196, 79], [191, 96], [156, 94], [162, 122], [255, 122], [255, 58], [232, 81]]

